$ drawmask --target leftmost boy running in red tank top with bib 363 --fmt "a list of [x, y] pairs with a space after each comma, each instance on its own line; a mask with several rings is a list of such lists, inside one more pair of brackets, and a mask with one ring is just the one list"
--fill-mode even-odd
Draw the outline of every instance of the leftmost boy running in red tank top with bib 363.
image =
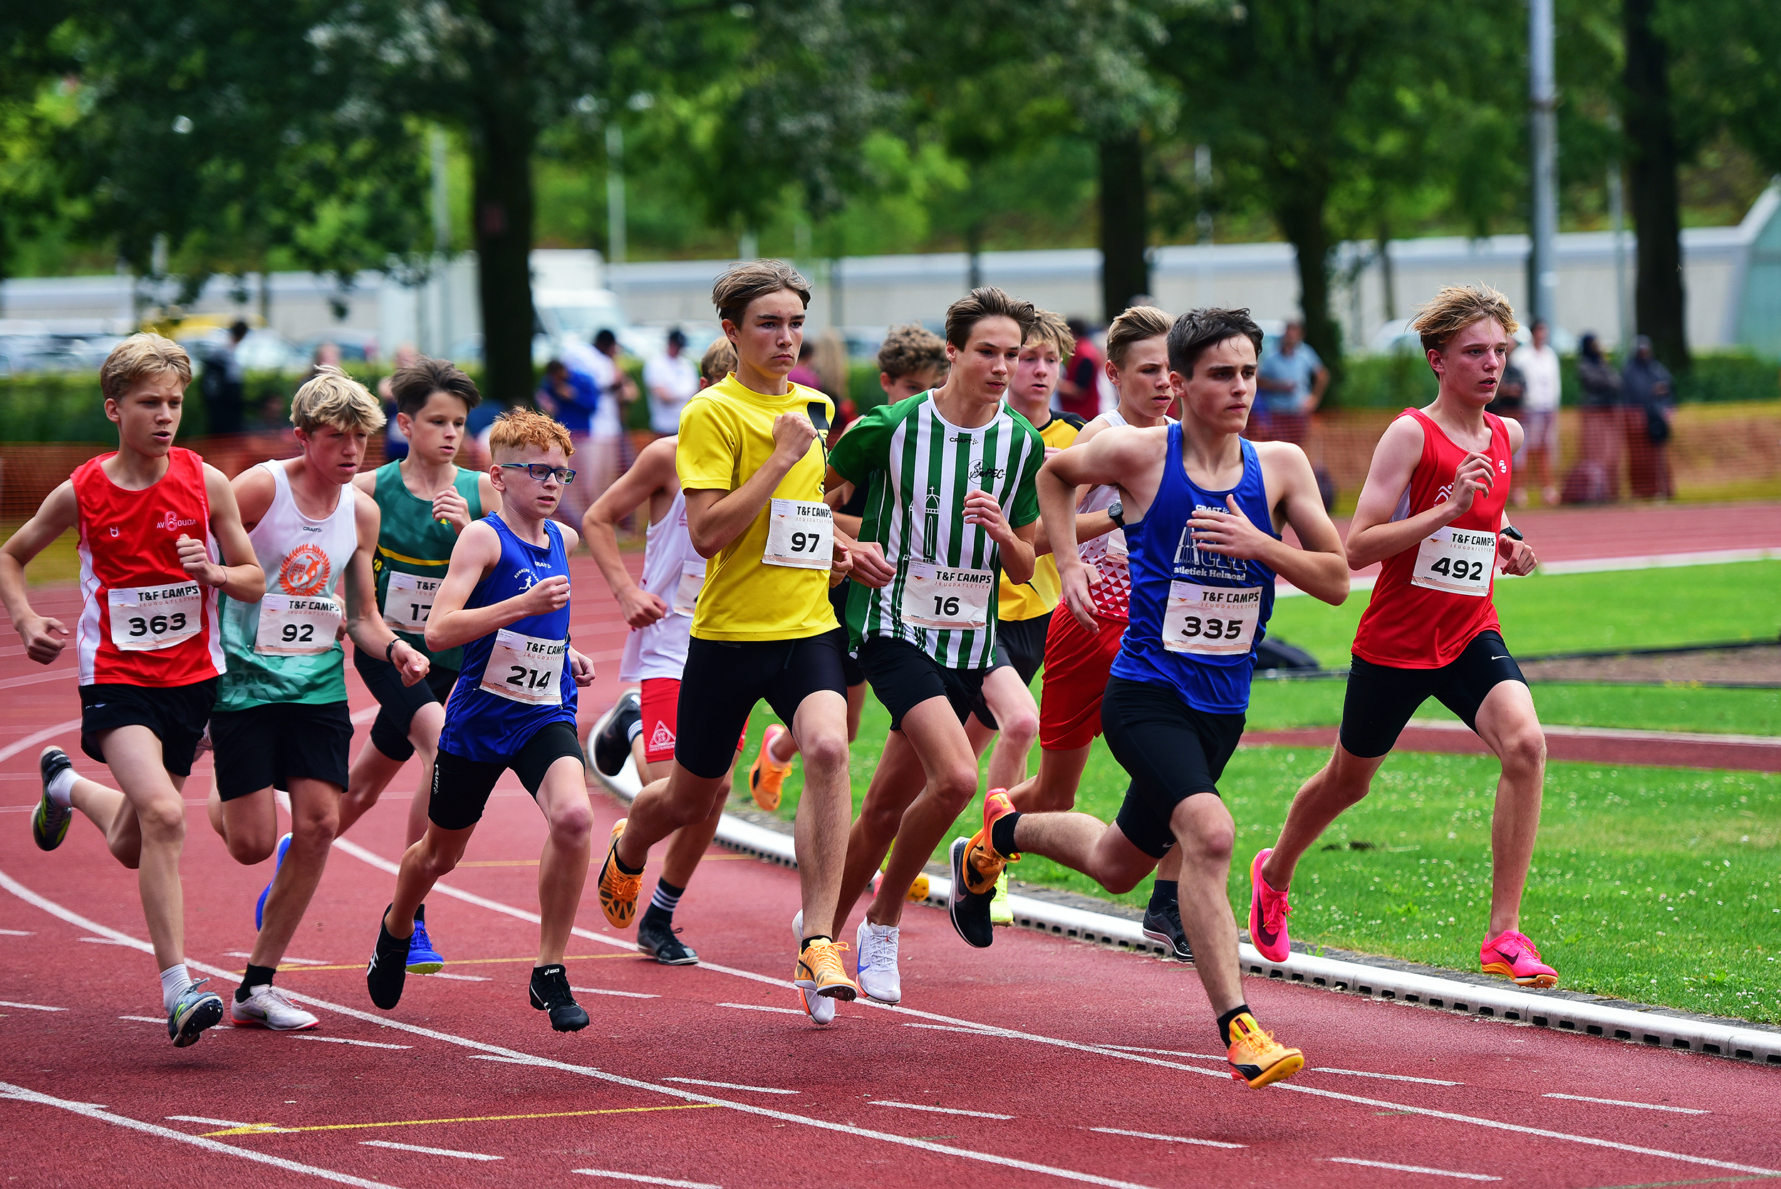
[[[228, 479], [173, 445], [191, 381], [191, 358], [160, 335], [112, 347], [100, 392], [118, 450], [75, 468], [0, 546], [0, 600], [25, 655], [52, 664], [68, 628], [30, 609], [25, 566], [68, 529], [80, 532], [80, 749], [110, 767], [123, 792], [77, 776], [68, 753], [45, 748], [30, 837], [53, 851], [80, 810], [112, 856], [137, 869], [167, 1036], [182, 1048], [223, 1020], [223, 999], [185, 972], [180, 794], [223, 675], [217, 591], [255, 600], [265, 589]], [[228, 564], [214, 561], [219, 550]]]

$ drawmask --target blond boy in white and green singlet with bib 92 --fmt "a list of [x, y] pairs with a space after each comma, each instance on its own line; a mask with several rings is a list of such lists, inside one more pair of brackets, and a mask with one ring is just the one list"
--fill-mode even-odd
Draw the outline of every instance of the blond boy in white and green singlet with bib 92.
[[[351, 376], [324, 367], [297, 388], [290, 422], [303, 454], [251, 466], [233, 482], [265, 584], [255, 602], [221, 600], [228, 669], [210, 712], [216, 785], [207, 799], [210, 826], [237, 863], [280, 853], [230, 1006], [235, 1025], [278, 1032], [319, 1023], [272, 986], [272, 975], [322, 879], [347, 781], [353, 717], [342, 623], [354, 648], [388, 659], [392, 680], [413, 685], [427, 675], [427, 659], [378, 616], [378, 506], [353, 488], [367, 440], [383, 429], [383, 408]], [[344, 607], [335, 594], [342, 587]], [[283, 844], [274, 789], [290, 794]]]

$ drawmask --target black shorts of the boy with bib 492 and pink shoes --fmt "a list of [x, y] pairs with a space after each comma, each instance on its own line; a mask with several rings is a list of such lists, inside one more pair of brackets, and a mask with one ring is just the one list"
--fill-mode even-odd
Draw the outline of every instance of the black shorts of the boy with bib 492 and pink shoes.
[[1478, 730], [1478, 707], [1501, 682], [1526, 685], [1528, 678], [1521, 676], [1521, 666], [1494, 630], [1480, 632], [1439, 669], [1393, 669], [1355, 657], [1341, 707], [1341, 746], [1361, 758], [1386, 755], [1428, 698]]

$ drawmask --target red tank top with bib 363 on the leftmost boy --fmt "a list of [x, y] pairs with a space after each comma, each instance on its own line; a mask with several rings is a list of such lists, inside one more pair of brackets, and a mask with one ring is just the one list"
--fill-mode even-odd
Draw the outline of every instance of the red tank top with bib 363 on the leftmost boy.
[[166, 475], [125, 491], [100, 466], [109, 457], [71, 475], [80, 509], [80, 683], [162, 689], [223, 676], [217, 593], [185, 573], [176, 545], [189, 536], [217, 557], [203, 459], [173, 447]]

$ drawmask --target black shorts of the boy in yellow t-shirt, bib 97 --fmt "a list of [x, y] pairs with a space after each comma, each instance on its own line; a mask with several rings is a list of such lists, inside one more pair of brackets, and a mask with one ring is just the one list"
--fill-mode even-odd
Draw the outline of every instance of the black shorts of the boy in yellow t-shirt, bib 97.
[[842, 628], [794, 641], [689, 639], [675, 708], [680, 728], [673, 740], [675, 762], [695, 776], [718, 780], [736, 764], [736, 737], [748, 726], [748, 712], [757, 701], [766, 701], [791, 724], [810, 694], [826, 689], [846, 698], [841, 673], [846, 655]]

